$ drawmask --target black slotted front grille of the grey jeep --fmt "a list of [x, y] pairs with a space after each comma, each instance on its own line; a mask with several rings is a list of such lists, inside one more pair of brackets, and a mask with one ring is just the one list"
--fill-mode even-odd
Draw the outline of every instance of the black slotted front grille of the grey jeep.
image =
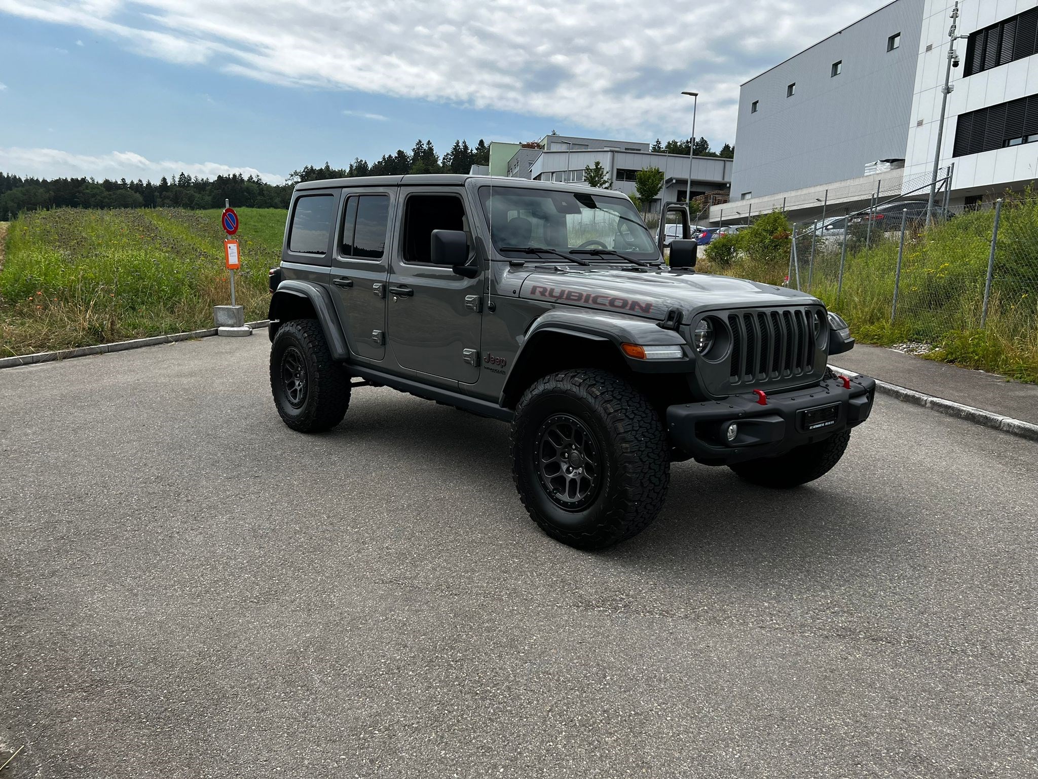
[[[732, 312], [729, 383], [757, 386], [791, 380], [815, 373], [819, 352], [816, 323], [825, 331], [825, 313], [816, 306], [762, 308]], [[822, 347], [824, 349], [824, 347]], [[824, 366], [821, 366], [824, 370]]]

